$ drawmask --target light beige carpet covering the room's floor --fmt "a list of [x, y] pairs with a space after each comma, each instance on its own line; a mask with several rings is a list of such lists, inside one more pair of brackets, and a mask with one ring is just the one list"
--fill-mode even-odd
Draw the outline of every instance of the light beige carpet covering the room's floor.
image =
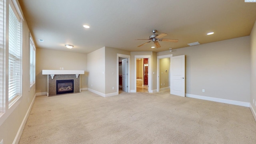
[[256, 144], [250, 108], [158, 93], [37, 96], [19, 144]]

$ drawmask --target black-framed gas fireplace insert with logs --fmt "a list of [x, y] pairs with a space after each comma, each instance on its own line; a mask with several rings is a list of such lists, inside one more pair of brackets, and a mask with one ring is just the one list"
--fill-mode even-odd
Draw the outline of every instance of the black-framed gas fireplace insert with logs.
[[74, 80], [56, 80], [56, 94], [74, 93]]

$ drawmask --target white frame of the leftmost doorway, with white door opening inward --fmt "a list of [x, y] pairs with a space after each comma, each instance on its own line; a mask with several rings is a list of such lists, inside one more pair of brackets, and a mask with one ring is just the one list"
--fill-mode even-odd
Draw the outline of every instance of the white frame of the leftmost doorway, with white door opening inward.
[[130, 55], [126, 55], [126, 54], [117, 54], [117, 60], [116, 60], [116, 92], [119, 94], [119, 57], [120, 58], [127, 58], [127, 62], [128, 62], [128, 66], [127, 66], [127, 72], [128, 72], [128, 75], [127, 75], [127, 86], [128, 86], [128, 89], [127, 91], [128, 92], [131, 92], [131, 82], [130, 82], [130, 77], [131, 77], [131, 56]]

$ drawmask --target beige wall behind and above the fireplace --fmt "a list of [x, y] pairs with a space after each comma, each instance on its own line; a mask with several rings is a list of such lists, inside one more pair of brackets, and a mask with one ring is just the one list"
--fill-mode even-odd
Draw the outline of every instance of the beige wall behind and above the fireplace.
[[[65, 48], [63, 46], [63, 48]], [[42, 75], [42, 70], [84, 70], [80, 75], [81, 88], [87, 88], [88, 76], [87, 54], [44, 48], [36, 49], [36, 92], [47, 92], [47, 75]]]

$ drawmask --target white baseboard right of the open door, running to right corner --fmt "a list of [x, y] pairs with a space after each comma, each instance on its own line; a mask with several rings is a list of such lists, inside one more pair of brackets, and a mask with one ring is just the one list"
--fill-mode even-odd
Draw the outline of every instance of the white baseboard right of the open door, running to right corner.
[[240, 102], [240, 101], [236, 101], [236, 100], [226, 100], [226, 99], [222, 99], [222, 98], [212, 98], [212, 97], [208, 97], [208, 96], [198, 96], [198, 95], [194, 95], [194, 94], [186, 94], [186, 97], [198, 98], [198, 99], [201, 99], [201, 100], [210, 100], [210, 101], [213, 101], [213, 102], [222, 102], [222, 103], [225, 103], [225, 104], [234, 104], [234, 105], [238, 105], [238, 106], [250, 107], [249, 102]]

